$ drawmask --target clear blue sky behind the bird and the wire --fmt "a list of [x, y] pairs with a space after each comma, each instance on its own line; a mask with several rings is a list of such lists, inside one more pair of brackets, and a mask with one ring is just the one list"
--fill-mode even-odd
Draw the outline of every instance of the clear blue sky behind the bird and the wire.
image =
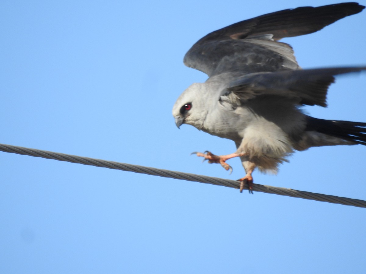
[[[203, 35], [308, 1], [0, 3], [0, 143], [238, 179], [232, 141], [172, 106], [206, 75], [183, 65]], [[361, 2], [365, 5], [366, 2]], [[366, 11], [284, 39], [303, 68], [366, 64]], [[366, 122], [366, 75], [339, 77], [317, 118]], [[366, 199], [366, 147], [295, 153], [255, 183]], [[0, 273], [362, 273], [366, 211], [0, 152]]]

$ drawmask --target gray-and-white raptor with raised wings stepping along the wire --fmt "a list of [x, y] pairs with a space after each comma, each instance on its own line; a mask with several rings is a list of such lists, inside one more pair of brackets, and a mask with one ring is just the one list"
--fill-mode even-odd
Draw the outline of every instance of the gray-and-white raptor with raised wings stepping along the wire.
[[253, 193], [252, 173], [276, 174], [295, 151], [314, 146], [366, 145], [366, 123], [314, 118], [302, 106], [326, 107], [335, 76], [366, 66], [302, 69], [281, 38], [314, 33], [365, 7], [339, 3], [298, 7], [234, 23], [199, 39], [183, 62], [208, 75], [176, 100], [172, 114], [178, 128], [192, 125], [235, 142], [236, 151], [215, 155], [193, 152], [208, 163], [232, 171], [227, 160], [239, 157], [246, 175], [240, 192]]

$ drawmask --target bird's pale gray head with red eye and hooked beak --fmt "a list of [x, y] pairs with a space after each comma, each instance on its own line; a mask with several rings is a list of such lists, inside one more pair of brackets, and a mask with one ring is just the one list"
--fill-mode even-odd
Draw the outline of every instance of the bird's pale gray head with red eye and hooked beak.
[[179, 128], [183, 123], [201, 129], [208, 108], [203, 96], [205, 86], [203, 83], [190, 85], [176, 100], [173, 106], [173, 117]]

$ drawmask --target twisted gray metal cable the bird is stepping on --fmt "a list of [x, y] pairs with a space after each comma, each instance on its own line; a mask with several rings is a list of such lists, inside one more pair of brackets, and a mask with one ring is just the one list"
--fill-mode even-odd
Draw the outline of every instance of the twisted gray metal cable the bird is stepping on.
[[[24, 148], [21, 146], [0, 144], [0, 151], [16, 153], [16, 154], [21, 154], [21, 155], [29, 155], [29, 156], [34, 156], [34, 157], [41, 157], [41, 158], [45, 158], [45, 159], [53, 159], [53, 160], [58, 160], [58, 161], [66, 161], [66, 162], [70, 162], [70, 163], [93, 165], [96, 167], [106, 167], [106, 168], [111, 168], [111, 169], [115, 169], [115, 170], [132, 171], [132, 172], [136, 172], [136, 173], [155, 175], [155, 176], [161, 176], [161, 177], [173, 178], [173, 179], [179, 179], [179, 180], [187, 180], [187, 181], [192, 181], [192, 182], [209, 183], [209, 184], [214, 184], [217, 186], [232, 187], [235, 189], [239, 189], [239, 186], [240, 186], [240, 182], [234, 181], [234, 180], [221, 179], [221, 178], [216, 178], [216, 177], [203, 176], [203, 175], [197, 175], [197, 174], [191, 174], [191, 173], [185, 173], [185, 172], [179, 172], [179, 171], [163, 170], [160, 168], [144, 167], [141, 165], [119, 163], [119, 162], [115, 162], [115, 161], [106, 161], [106, 160], [100, 160], [100, 159], [94, 159], [94, 158], [82, 157], [82, 156], [76, 156], [76, 155], [69, 155], [69, 154], [58, 153], [58, 152], [44, 151], [44, 150], [34, 149], [34, 148]], [[309, 199], [309, 200], [314, 200], [314, 201], [339, 203], [341, 205], [350, 205], [350, 206], [357, 206], [360, 208], [366, 208], [366, 201], [363, 201], [363, 200], [344, 198], [344, 197], [319, 194], [319, 193], [312, 193], [312, 192], [301, 191], [301, 190], [286, 189], [283, 187], [273, 187], [273, 186], [265, 186], [262, 184], [253, 184], [253, 191], [277, 194], [277, 195], [283, 195], [283, 196], [290, 196], [290, 197], [296, 197], [296, 198], [303, 198], [303, 199]]]

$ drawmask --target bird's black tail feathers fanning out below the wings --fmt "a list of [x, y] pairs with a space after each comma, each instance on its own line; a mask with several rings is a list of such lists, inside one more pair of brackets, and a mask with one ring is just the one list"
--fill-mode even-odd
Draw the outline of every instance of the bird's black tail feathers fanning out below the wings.
[[366, 145], [366, 123], [317, 119], [308, 116], [306, 129]]

